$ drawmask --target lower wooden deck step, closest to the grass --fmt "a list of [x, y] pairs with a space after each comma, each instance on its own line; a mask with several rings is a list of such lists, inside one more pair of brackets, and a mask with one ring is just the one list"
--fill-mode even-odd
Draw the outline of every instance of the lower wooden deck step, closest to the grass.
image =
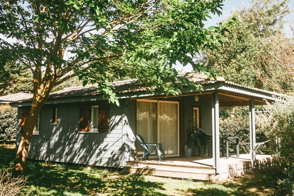
[[173, 167], [163, 165], [139, 165], [132, 166], [126, 165], [123, 167], [124, 172], [134, 174], [145, 174], [162, 177], [173, 178], [192, 178], [194, 180], [213, 180], [215, 172], [213, 170], [197, 169], [197, 168], [185, 168], [185, 167]]

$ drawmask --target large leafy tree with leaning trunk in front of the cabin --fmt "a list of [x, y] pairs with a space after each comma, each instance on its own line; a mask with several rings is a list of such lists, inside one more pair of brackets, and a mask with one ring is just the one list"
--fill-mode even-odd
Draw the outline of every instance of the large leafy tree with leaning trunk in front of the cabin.
[[[15, 175], [24, 171], [27, 150], [42, 106], [55, 86], [78, 76], [97, 83], [103, 98], [118, 105], [111, 82], [131, 75], [167, 94], [182, 85], [172, 64], [193, 62], [200, 49], [222, 44], [233, 17], [204, 28], [209, 14], [221, 14], [222, 0], [4, 0], [0, 2], [0, 75], [8, 78], [24, 65], [33, 74], [33, 102], [15, 161]], [[12, 66], [12, 68], [7, 68]]]

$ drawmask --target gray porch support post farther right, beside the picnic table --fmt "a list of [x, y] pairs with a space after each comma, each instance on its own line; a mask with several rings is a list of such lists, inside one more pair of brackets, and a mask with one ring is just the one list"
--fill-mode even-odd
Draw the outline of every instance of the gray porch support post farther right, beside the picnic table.
[[255, 107], [254, 97], [249, 100], [249, 125], [250, 125], [250, 160], [253, 165], [256, 164], [256, 150], [255, 150]]

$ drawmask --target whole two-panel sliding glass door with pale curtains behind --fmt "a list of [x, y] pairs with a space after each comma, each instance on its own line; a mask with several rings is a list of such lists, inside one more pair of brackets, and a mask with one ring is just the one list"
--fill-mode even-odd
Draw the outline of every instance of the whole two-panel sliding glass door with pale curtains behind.
[[[146, 143], [162, 143], [166, 156], [178, 156], [178, 113], [176, 101], [137, 100], [137, 134], [141, 135]], [[150, 147], [149, 150], [154, 148]], [[143, 151], [137, 141], [137, 156], [141, 157]]]

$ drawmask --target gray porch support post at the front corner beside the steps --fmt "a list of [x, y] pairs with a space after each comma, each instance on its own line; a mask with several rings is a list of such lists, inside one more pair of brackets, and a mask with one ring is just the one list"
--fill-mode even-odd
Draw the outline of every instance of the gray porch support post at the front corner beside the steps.
[[219, 135], [219, 103], [218, 90], [211, 95], [212, 103], [212, 153], [213, 167], [216, 167], [216, 174], [220, 172], [220, 135]]

